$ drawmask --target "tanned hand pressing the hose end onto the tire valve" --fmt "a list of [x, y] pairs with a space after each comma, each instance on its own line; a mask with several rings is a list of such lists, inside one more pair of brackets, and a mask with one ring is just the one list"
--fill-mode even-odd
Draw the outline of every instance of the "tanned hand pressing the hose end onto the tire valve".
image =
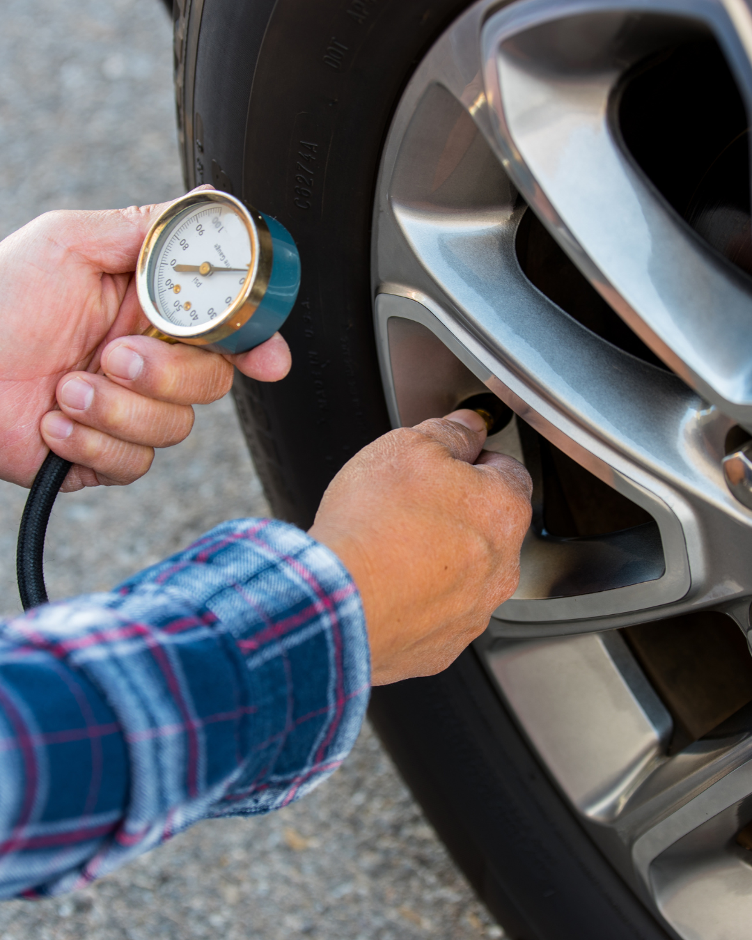
[[323, 494], [310, 535], [360, 591], [374, 685], [445, 669], [517, 587], [532, 487], [485, 439], [466, 409], [391, 431]]

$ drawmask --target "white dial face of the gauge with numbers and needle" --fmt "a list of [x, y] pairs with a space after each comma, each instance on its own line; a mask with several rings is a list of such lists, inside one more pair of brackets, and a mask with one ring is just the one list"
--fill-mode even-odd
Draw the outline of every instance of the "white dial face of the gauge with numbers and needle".
[[251, 259], [238, 211], [217, 202], [191, 206], [164, 229], [152, 268], [152, 300], [166, 321], [205, 327], [242, 292]]

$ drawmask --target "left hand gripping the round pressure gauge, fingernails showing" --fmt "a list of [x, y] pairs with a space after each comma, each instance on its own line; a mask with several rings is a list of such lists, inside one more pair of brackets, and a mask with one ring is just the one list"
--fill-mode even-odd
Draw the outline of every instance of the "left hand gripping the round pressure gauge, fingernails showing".
[[191, 431], [192, 404], [227, 393], [233, 366], [287, 375], [279, 334], [241, 355], [138, 335], [133, 270], [165, 205], [47, 212], [0, 243], [0, 478], [30, 486], [49, 448], [74, 464], [63, 490], [130, 483]]

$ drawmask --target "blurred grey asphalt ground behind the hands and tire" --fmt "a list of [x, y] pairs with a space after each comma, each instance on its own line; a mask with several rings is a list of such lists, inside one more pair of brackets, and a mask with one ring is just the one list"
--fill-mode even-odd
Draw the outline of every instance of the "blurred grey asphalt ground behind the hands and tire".
[[[5, 0], [0, 236], [49, 209], [180, 195], [171, 32], [158, 0]], [[266, 506], [228, 400], [124, 489], [61, 496], [53, 598], [112, 587], [223, 519]], [[20, 610], [25, 493], [0, 483], [0, 612]], [[0, 940], [501, 937], [373, 734], [304, 801], [207, 822], [84, 891], [0, 904]]]

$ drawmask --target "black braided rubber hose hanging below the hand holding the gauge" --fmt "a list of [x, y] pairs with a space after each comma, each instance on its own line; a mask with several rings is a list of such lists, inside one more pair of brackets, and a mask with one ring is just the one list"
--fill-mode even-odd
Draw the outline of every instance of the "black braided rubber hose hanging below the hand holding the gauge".
[[57, 493], [71, 466], [71, 461], [64, 461], [50, 451], [39, 467], [26, 499], [16, 548], [16, 575], [24, 610], [47, 603], [43, 567], [44, 534]]

